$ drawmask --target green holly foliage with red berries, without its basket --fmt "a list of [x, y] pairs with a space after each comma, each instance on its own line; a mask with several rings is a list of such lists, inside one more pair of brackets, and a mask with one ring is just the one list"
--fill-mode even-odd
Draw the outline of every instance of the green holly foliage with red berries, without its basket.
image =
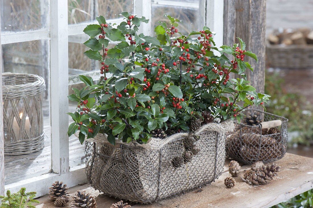
[[[168, 15], [169, 21], [159, 22], [151, 37], [138, 33], [141, 23], [148, 22], [145, 17], [121, 15], [125, 21], [119, 25], [100, 16], [99, 24], [84, 29], [90, 36], [85, 55], [100, 61], [101, 68], [99, 80], [80, 75], [86, 86], [68, 96], [78, 103], [78, 110], [68, 113], [74, 120], [68, 135], [79, 130], [81, 143], [98, 133], [113, 145], [116, 138], [146, 143], [155, 130], [189, 131], [190, 121], [203, 112], [215, 121], [240, 121], [245, 108], [263, 106], [269, 99], [247, 81], [245, 71], [253, 67], [245, 56], [258, 59], [240, 38], [240, 45], [216, 48], [208, 27], [182, 35], [180, 21]], [[231, 73], [240, 78], [230, 79]]]

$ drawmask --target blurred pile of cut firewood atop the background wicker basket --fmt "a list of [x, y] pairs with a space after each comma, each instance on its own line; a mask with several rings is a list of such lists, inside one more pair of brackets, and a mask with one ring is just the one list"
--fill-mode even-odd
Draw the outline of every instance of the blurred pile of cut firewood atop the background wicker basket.
[[267, 40], [272, 45], [313, 44], [313, 30], [309, 28], [274, 30], [268, 35]]

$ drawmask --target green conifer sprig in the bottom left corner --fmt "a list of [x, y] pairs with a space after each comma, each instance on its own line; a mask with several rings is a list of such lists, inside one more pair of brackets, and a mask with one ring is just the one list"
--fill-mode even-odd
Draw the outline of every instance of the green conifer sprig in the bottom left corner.
[[0, 208], [35, 208], [33, 204], [39, 203], [38, 200], [33, 198], [36, 192], [25, 192], [26, 188], [21, 188], [17, 193], [11, 194], [8, 190], [6, 196], [0, 196]]

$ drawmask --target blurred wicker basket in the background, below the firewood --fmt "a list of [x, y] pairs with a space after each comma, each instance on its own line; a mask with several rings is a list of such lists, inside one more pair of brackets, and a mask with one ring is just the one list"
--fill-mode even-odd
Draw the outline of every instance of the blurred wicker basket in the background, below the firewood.
[[266, 45], [266, 64], [273, 68], [312, 68], [313, 45]]

